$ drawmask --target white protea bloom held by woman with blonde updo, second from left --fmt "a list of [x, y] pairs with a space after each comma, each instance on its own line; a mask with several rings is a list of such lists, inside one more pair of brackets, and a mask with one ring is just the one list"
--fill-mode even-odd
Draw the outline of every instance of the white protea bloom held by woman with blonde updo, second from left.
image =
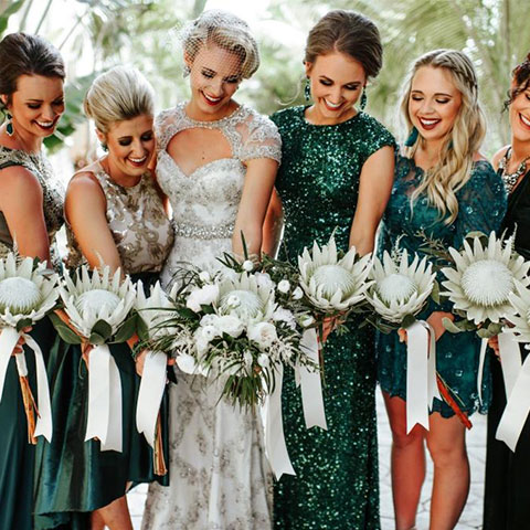
[[64, 277], [60, 286], [64, 310], [73, 326], [88, 338], [98, 320], [107, 322], [116, 333], [136, 300], [136, 289], [128, 276], [123, 280], [119, 268], [110, 275], [109, 267], [92, 273], [83, 265], [75, 278]]

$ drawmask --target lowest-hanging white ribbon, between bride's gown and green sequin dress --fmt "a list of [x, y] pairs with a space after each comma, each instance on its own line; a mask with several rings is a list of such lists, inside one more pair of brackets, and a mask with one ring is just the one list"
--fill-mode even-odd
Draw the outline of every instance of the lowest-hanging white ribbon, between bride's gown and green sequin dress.
[[282, 417], [282, 384], [284, 367], [276, 369], [276, 386], [274, 392], [265, 398], [261, 406], [263, 428], [265, 431], [265, 454], [277, 480], [285, 473], [296, 475], [285, 445], [284, 421]]

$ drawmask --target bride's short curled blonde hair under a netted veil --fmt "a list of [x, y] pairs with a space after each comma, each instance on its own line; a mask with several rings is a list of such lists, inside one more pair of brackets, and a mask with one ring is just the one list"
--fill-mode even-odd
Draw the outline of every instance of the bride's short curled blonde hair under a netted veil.
[[240, 59], [243, 78], [251, 77], [259, 66], [257, 43], [248, 24], [226, 11], [204, 11], [184, 26], [181, 39], [184, 52], [191, 61], [204, 45], [215, 44]]

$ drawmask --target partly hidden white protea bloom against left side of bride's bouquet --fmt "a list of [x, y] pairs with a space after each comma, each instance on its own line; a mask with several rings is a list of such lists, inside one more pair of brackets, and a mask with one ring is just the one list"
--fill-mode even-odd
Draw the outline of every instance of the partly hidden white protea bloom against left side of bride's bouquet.
[[159, 339], [168, 335], [174, 335], [178, 328], [169, 326], [166, 322], [169, 319], [176, 318], [178, 314], [171, 310], [174, 309], [174, 304], [163, 292], [160, 282], [151, 286], [149, 296], [146, 296], [141, 282], [138, 282], [136, 290], [135, 307], [141, 319], [146, 322], [150, 338]]

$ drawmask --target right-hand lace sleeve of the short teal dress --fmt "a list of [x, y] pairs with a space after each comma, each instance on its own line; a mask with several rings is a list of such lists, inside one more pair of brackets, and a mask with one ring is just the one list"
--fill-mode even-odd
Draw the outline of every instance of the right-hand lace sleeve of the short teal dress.
[[489, 162], [476, 163], [473, 176], [458, 192], [458, 218], [453, 246], [459, 248], [469, 232], [489, 234], [500, 229], [507, 198], [501, 178]]

